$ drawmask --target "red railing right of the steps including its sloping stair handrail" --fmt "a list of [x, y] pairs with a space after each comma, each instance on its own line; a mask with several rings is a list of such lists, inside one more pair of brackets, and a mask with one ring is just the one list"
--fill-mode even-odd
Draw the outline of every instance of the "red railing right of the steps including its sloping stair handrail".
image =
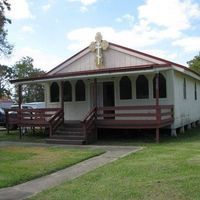
[[93, 108], [82, 121], [85, 136], [97, 128], [161, 128], [173, 123], [173, 105]]

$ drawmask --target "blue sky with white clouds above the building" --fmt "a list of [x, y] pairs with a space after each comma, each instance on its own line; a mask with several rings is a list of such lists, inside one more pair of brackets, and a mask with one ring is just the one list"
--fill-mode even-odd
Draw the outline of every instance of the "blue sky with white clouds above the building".
[[200, 0], [8, 0], [14, 45], [1, 63], [23, 56], [49, 71], [103, 39], [187, 66], [200, 51]]

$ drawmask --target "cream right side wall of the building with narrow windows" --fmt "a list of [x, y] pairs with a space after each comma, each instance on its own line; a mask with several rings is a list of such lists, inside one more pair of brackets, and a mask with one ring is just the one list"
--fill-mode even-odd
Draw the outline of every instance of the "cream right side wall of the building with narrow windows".
[[[183, 81], [186, 79], [187, 98], [183, 98]], [[197, 100], [194, 97], [195, 82], [197, 85]], [[174, 128], [185, 126], [200, 120], [200, 81], [175, 71], [175, 108], [174, 108]]]

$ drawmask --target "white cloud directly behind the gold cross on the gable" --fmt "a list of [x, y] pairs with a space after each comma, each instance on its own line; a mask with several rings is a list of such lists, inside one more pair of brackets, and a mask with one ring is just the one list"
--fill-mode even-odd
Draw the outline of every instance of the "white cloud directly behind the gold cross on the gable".
[[134, 29], [116, 31], [112, 27], [85, 27], [73, 30], [67, 34], [67, 38], [72, 41], [72, 43], [68, 46], [68, 49], [71, 51], [78, 51], [80, 48], [88, 46], [91, 39], [95, 37], [97, 32], [101, 32], [104, 39], [109, 42], [132, 48], [142, 47], [154, 43], [154, 34], [152, 34], [152, 36], [150, 34], [147, 35], [145, 32], [142, 33], [141, 30], [138, 32], [135, 32]]

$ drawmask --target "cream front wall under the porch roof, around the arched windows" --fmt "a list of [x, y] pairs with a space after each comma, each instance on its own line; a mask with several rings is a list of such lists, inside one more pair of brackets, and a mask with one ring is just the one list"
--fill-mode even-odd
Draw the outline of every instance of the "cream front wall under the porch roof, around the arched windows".
[[[161, 105], [173, 105], [174, 104], [174, 91], [173, 91], [173, 73], [172, 70], [161, 72], [162, 75], [166, 79], [166, 87], [167, 87], [167, 98], [161, 98], [159, 100]], [[136, 98], [136, 79], [139, 75], [142, 74], [132, 74], [129, 75], [129, 79], [132, 83], [132, 99], [129, 100], [120, 100], [119, 94], [119, 82], [122, 78], [118, 77], [110, 77], [110, 78], [97, 78], [97, 105], [103, 106], [103, 82], [114, 82], [114, 93], [115, 93], [115, 105], [116, 106], [134, 106], [134, 105], [155, 105], [156, 100], [153, 98], [153, 78], [155, 73], [144, 73], [149, 82], [149, 98], [148, 99], [137, 99]], [[83, 120], [86, 114], [90, 111], [92, 105], [92, 91], [90, 91], [90, 84], [93, 82], [92, 80], [84, 80], [86, 86], [86, 101], [75, 101], [75, 84], [77, 80], [71, 80], [70, 83], [72, 85], [72, 101], [64, 102], [64, 116], [65, 120]], [[60, 82], [57, 82], [59, 86]], [[46, 99], [47, 99], [47, 107], [49, 108], [59, 108], [61, 107], [61, 102], [52, 103], [50, 102], [50, 85], [51, 83], [46, 84]], [[61, 99], [61, 96], [60, 96]], [[128, 112], [128, 111], [127, 111]], [[125, 119], [125, 118], [123, 118]]]

